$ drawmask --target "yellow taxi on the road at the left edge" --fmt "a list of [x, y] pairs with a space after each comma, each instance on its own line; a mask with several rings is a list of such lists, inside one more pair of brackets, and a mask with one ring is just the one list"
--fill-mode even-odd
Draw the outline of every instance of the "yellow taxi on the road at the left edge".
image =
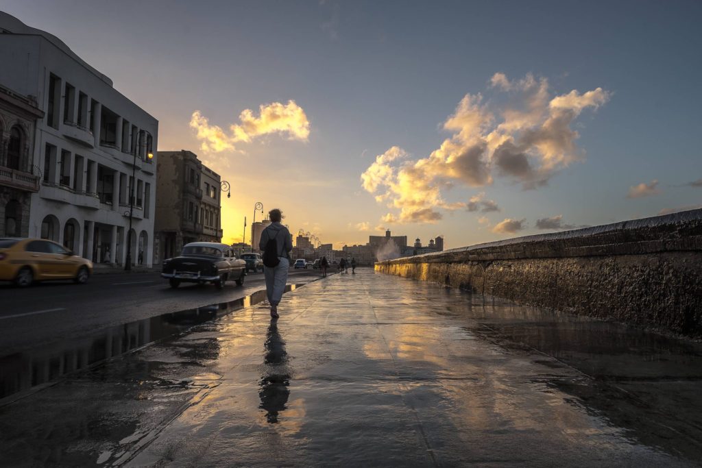
[[0, 281], [29, 286], [34, 281], [72, 279], [83, 284], [93, 262], [46, 239], [0, 238]]

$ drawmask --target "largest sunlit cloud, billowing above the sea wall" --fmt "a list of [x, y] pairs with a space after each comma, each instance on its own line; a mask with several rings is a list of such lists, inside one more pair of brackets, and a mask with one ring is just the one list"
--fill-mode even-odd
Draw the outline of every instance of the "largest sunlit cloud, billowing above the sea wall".
[[[573, 121], [583, 109], [597, 109], [610, 98], [602, 88], [555, 95], [548, 79], [531, 74], [510, 81], [496, 73], [489, 88], [510, 93], [510, 104], [489, 105], [479, 93], [466, 94], [443, 123], [451, 135], [428, 156], [411, 161], [404, 150], [391, 147], [362, 174], [364, 189], [378, 203], [399, 210], [386, 215], [388, 222], [436, 222], [439, 210], [477, 210], [477, 202], [444, 200], [442, 189], [456, 183], [484, 187], [500, 175], [524, 189], [548, 184], [585, 155], [575, 144], [579, 135], [571, 128]], [[482, 210], [499, 210], [494, 201], [484, 203]]]

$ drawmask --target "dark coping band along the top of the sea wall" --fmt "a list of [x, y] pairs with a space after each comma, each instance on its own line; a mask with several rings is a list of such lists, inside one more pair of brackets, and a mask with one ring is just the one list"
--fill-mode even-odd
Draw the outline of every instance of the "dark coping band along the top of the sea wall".
[[702, 209], [552, 234], [515, 237], [378, 263], [634, 255], [676, 250], [702, 250]]

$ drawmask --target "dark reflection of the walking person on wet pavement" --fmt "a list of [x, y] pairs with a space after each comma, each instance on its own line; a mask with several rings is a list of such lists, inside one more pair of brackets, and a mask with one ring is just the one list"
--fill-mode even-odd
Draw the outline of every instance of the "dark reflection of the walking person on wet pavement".
[[278, 422], [278, 413], [286, 408], [290, 396], [290, 375], [287, 372], [288, 352], [285, 342], [278, 333], [277, 321], [272, 319], [266, 333], [264, 363], [265, 372], [261, 376], [258, 396], [261, 404], [258, 408], [266, 411], [266, 421]]

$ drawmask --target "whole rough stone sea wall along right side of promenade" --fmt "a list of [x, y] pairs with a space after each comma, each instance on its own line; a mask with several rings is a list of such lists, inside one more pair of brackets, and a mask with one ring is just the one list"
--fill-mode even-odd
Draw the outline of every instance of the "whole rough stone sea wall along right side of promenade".
[[376, 271], [702, 337], [702, 209], [398, 258]]

